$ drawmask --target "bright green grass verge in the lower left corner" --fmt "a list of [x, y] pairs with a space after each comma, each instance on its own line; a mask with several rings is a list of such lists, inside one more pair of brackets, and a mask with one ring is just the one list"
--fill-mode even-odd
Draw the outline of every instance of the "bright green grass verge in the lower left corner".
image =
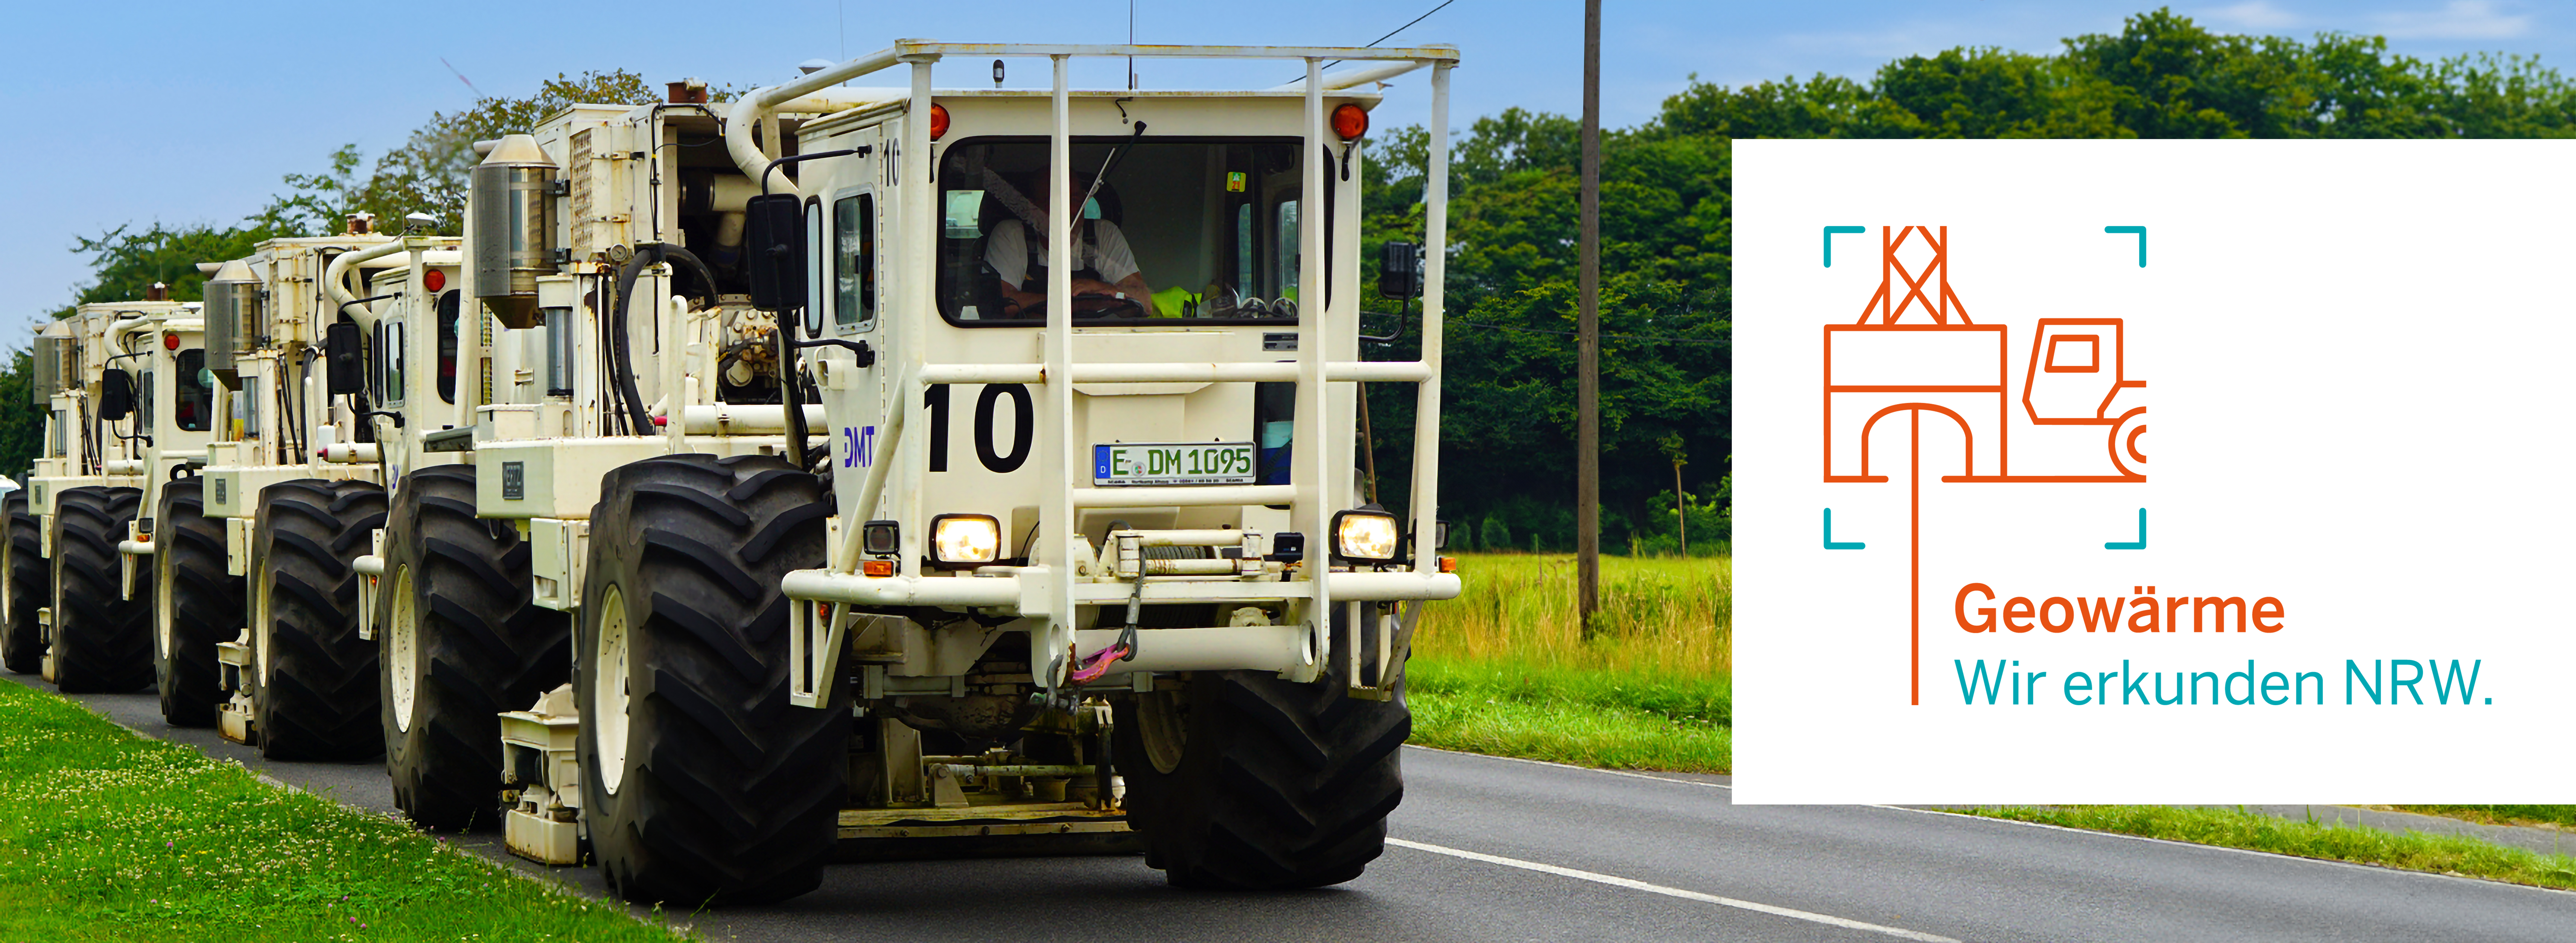
[[0, 940], [670, 940], [407, 824], [0, 683]]

